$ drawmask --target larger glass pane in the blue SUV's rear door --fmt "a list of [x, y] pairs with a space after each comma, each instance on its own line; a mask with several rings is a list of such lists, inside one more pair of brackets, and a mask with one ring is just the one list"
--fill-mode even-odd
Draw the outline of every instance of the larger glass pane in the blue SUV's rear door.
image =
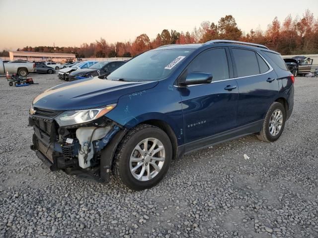
[[243, 49], [232, 49], [232, 52], [237, 66], [238, 77], [259, 74], [255, 52]]

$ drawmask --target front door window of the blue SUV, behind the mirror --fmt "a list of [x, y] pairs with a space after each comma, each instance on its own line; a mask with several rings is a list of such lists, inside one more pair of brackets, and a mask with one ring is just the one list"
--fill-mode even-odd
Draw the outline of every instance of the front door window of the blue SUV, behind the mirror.
[[225, 49], [218, 48], [202, 52], [188, 67], [188, 73], [191, 72], [211, 73], [213, 81], [230, 78]]

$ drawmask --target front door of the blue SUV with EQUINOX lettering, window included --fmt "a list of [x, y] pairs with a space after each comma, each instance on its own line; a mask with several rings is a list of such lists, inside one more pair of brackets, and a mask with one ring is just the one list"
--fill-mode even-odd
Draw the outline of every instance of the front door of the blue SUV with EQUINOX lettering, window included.
[[[212, 83], [179, 87], [184, 124], [185, 150], [211, 144], [211, 137], [236, 127], [238, 85], [226, 48], [198, 55], [187, 67], [191, 72], [212, 73]], [[229, 67], [230, 66], [230, 67]]]

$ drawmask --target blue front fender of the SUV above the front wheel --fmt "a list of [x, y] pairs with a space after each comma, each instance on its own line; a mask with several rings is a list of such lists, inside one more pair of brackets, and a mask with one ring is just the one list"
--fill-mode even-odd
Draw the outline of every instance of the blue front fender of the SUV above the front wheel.
[[167, 123], [175, 133], [178, 145], [183, 144], [183, 119], [180, 93], [171, 85], [127, 94], [119, 98], [117, 106], [106, 117], [127, 129], [147, 120]]

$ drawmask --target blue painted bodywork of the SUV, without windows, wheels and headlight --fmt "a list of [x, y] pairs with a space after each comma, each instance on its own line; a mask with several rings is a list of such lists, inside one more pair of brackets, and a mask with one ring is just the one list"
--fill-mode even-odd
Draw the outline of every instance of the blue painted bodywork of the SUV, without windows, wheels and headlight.
[[[214, 47], [226, 49], [232, 79], [191, 87], [178, 85], [176, 80], [187, 65], [200, 53]], [[274, 70], [236, 79], [236, 68], [229, 47], [243, 47], [257, 52]], [[33, 106], [66, 111], [117, 104], [105, 117], [128, 129], [147, 120], [165, 122], [172, 128], [178, 146], [262, 120], [269, 106], [278, 98], [286, 99], [289, 109], [293, 108], [294, 86], [289, 77], [290, 72], [280, 69], [268, 59], [262, 53], [264, 49], [234, 44], [196, 44], [173, 45], [155, 50], [169, 49], [194, 50], [162, 80], [129, 82], [98, 77], [82, 79], [58, 85], [39, 95]], [[266, 81], [269, 77], [276, 80], [269, 83]], [[228, 85], [236, 88], [227, 91], [225, 88]]]

